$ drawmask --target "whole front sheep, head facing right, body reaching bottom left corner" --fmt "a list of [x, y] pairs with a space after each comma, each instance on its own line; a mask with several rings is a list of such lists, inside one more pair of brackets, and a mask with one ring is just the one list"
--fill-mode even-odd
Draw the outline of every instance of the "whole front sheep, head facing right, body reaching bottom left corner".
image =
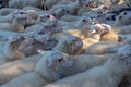
[[67, 65], [70, 67], [73, 65], [73, 62], [70, 58], [67, 59], [67, 54], [60, 57], [59, 51], [46, 51], [43, 54], [43, 59], [37, 63], [35, 71], [16, 77], [1, 87], [40, 87], [48, 83], [56, 82], [60, 78], [57, 69], [60, 65]]

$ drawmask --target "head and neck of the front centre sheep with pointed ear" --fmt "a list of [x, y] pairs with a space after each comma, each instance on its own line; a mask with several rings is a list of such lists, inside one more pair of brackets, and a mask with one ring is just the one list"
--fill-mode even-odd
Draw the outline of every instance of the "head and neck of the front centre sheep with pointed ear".
[[43, 55], [43, 59], [36, 65], [35, 71], [44, 76], [48, 82], [55, 82], [60, 78], [58, 67], [67, 66], [70, 67], [73, 65], [73, 61], [69, 58], [68, 54], [60, 51], [43, 51], [38, 50]]

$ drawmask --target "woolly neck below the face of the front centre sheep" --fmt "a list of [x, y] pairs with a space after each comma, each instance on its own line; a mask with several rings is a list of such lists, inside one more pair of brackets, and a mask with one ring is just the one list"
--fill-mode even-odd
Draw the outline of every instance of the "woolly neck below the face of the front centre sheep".
[[46, 60], [46, 58], [41, 59], [36, 65], [35, 72], [49, 83], [58, 80], [60, 76], [56, 65], [47, 66], [47, 63], [49, 62]]

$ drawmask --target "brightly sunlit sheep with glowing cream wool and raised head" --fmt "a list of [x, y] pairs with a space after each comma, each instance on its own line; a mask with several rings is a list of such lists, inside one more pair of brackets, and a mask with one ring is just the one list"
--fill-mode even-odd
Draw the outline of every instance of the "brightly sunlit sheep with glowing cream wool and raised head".
[[[88, 37], [83, 39], [83, 48], [82, 48], [81, 52], [84, 52], [88, 46], [102, 41], [104, 34], [108, 33], [109, 30], [111, 30], [111, 27], [106, 24], [91, 25], [90, 32], [88, 32]], [[106, 37], [106, 38], [104, 38], [104, 40], [105, 39], [107, 41], [116, 40], [116, 39], [114, 39], [114, 38], [116, 38], [114, 36], [112, 36], [112, 39], [110, 39], [110, 38], [108, 39], [108, 37]], [[118, 40], [118, 38], [117, 38], [117, 40]]]

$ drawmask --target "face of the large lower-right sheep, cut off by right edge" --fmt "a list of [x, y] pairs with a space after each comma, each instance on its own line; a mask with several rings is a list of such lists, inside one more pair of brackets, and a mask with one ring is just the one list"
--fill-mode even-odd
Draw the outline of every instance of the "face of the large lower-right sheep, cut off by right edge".
[[118, 53], [126, 64], [131, 64], [131, 45], [124, 45], [123, 47], [119, 48]]

